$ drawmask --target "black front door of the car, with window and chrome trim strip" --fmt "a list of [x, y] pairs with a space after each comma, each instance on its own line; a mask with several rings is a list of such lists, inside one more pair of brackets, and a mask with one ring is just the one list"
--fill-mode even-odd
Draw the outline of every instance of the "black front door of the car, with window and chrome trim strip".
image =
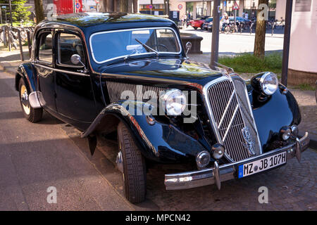
[[72, 120], [92, 122], [97, 116], [90, 76], [84, 66], [74, 65], [70, 57], [77, 54], [87, 67], [83, 41], [75, 32], [59, 31], [56, 39], [56, 107], [58, 113]]

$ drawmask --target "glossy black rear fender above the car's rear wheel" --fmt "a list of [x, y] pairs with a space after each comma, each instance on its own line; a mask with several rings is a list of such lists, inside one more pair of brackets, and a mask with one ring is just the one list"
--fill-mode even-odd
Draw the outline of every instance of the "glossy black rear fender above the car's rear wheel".
[[21, 77], [24, 79], [25, 84], [27, 84], [30, 93], [36, 91], [37, 82], [35, 81], [32, 63], [23, 63], [18, 66], [15, 73], [15, 90], [17, 91], [19, 90], [19, 81]]

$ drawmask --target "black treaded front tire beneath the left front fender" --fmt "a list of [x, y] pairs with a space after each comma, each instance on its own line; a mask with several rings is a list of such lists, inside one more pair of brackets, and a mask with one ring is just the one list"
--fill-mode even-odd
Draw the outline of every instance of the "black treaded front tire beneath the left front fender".
[[144, 158], [123, 122], [118, 124], [118, 146], [123, 157], [124, 193], [130, 203], [144, 201], [147, 192], [147, 171]]

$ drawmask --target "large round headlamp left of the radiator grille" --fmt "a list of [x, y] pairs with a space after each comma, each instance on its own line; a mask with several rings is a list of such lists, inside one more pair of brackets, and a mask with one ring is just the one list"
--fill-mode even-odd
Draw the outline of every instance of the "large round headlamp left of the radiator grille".
[[178, 89], [168, 89], [162, 96], [163, 107], [167, 115], [180, 115], [187, 104], [185, 94]]

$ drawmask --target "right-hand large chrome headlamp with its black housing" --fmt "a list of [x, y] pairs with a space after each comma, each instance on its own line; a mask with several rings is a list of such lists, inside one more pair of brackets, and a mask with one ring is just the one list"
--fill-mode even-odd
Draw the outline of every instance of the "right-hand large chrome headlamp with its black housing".
[[251, 84], [267, 96], [271, 96], [278, 89], [278, 76], [274, 72], [261, 72], [251, 79]]

